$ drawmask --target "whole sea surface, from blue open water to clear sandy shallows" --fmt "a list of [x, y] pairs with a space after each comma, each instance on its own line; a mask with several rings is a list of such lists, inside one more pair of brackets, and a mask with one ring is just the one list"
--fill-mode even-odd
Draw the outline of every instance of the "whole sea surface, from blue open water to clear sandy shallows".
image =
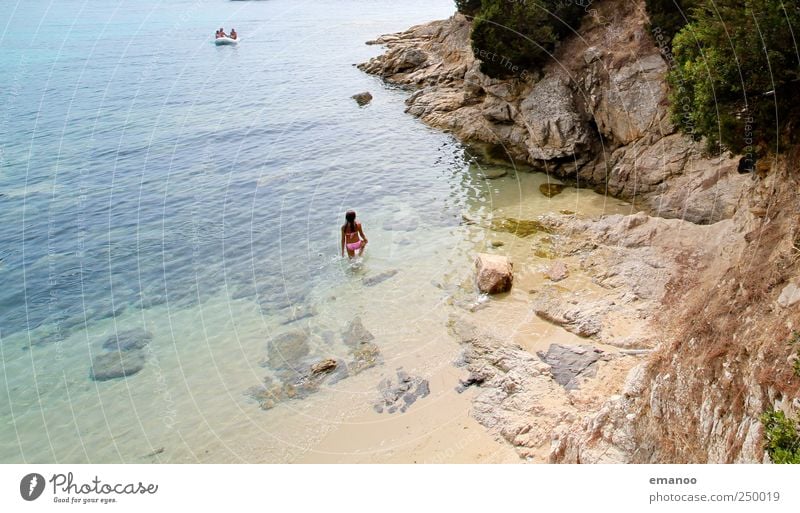
[[[485, 301], [471, 264], [493, 235], [465, 214], [623, 208], [544, 198], [545, 175], [486, 180], [404, 113], [406, 91], [353, 66], [381, 52], [365, 41], [453, 10], [0, 3], [0, 462], [295, 461], [319, 416], [369, 410], [379, 374], [322, 390], [317, 417], [299, 406], [314, 398], [265, 410], [270, 340], [303, 329], [321, 334], [308, 358], [346, 359], [338, 334], [358, 317], [381, 351], [366, 372], [394, 371]], [[213, 44], [220, 26], [238, 46]], [[370, 241], [358, 262], [339, 254], [351, 208]], [[120, 333], [147, 339], [143, 369], [91, 379]]]

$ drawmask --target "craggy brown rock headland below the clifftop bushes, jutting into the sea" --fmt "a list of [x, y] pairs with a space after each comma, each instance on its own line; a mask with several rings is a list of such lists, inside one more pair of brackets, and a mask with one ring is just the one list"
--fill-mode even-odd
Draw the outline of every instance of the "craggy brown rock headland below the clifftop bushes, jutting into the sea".
[[[470, 22], [444, 21], [383, 36], [367, 73], [411, 89], [407, 112], [494, 154], [635, 200], [654, 215], [713, 223], [733, 215], [746, 180], [738, 160], [707, 157], [667, 114], [667, 62], [648, 34], [644, 2], [604, 0], [579, 37], [543, 70], [510, 79], [480, 72]], [[490, 55], [487, 58], [504, 59]]]

